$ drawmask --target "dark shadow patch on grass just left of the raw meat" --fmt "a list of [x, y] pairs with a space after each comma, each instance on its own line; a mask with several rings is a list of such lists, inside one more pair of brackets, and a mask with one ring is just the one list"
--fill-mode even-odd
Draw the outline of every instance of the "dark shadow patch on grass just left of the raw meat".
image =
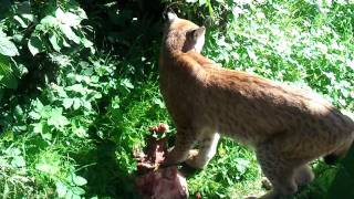
[[87, 180], [86, 197], [138, 198], [134, 176], [117, 164], [116, 150], [116, 144], [105, 139], [93, 149], [76, 154], [76, 163], [84, 167], [79, 172]]

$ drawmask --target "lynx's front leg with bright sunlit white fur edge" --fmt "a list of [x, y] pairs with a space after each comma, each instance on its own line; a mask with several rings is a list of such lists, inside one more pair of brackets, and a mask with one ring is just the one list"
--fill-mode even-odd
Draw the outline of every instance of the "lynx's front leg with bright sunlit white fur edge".
[[220, 135], [218, 133], [205, 132], [199, 140], [199, 150], [186, 164], [192, 168], [204, 168], [217, 153]]

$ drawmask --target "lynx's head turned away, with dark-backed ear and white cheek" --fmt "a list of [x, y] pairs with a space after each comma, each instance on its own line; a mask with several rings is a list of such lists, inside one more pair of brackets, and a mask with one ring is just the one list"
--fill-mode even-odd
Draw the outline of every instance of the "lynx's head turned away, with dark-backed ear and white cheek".
[[205, 27], [180, 19], [175, 13], [167, 13], [168, 22], [163, 39], [163, 51], [169, 53], [195, 50], [200, 53], [205, 42]]

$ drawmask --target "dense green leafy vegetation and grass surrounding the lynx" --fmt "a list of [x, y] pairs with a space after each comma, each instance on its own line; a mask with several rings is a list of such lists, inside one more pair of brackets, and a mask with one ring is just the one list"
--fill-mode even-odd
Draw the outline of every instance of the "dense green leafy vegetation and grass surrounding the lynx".
[[[171, 3], [174, 2], [174, 3]], [[133, 150], [148, 127], [174, 125], [158, 90], [162, 13], [207, 25], [204, 54], [223, 66], [292, 82], [354, 111], [351, 1], [1, 1], [2, 198], [126, 198]], [[316, 160], [298, 198], [323, 198], [336, 167]], [[260, 193], [253, 153], [223, 139], [188, 178], [191, 196]]]

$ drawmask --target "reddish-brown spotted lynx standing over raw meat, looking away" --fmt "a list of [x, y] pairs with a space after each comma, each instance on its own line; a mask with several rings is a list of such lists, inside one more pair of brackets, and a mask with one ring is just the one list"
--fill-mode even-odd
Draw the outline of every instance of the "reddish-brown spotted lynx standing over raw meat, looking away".
[[[204, 42], [204, 27], [168, 13], [159, 83], [177, 134], [165, 166], [205, 167], [220, 133], [254, 148], [272, 185], [262, 198], [283, 198], [313, 180], [309, 161], [346, 153], [350, 117], [312, 92], [219, 66], [200, 54]], [[198, 154], [190, 156], [195, 144]]]

